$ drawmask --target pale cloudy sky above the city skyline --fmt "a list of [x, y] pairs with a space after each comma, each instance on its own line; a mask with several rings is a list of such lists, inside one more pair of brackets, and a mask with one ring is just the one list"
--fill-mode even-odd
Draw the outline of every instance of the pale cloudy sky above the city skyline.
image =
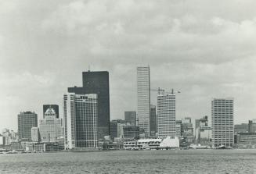
[[[0, 0], [0, 130], [42, 105], [62, 110], [81, 72], [110, 73], [110, 119], [136, 110], [136, 66], [151, 88], [181, 91], [176, 118], [234, 98], [235, 123], [256, 119], [254, 0]], [[151, 93], [156, 104], [157, 94]], [[62, 112], [60, 112], [62, 113]]]

